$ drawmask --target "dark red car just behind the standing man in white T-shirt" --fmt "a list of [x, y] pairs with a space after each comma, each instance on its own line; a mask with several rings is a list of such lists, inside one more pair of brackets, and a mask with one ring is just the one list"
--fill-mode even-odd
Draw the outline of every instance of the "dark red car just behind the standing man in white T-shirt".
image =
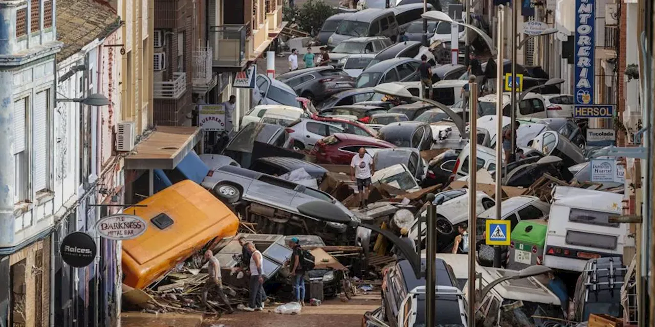
[[395, 148], [395, 145], [375, 137], [335, 133], [320, 139], [309, 152], [316, 163], [350, 165], [350, 160], [360, 148]]

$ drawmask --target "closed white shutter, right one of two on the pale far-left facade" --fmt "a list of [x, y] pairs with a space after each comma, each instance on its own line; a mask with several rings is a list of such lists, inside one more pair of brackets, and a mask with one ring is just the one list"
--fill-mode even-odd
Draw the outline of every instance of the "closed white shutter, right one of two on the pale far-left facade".
[[48, 90], [37, 93], [33, 109], [33, 189], [36, 192], [47, 188], [48, 179]]

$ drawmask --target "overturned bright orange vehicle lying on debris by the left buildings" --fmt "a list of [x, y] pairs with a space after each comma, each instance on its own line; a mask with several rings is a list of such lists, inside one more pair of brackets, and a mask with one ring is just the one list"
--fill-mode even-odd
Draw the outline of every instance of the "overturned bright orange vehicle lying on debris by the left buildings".
[[[208, 190], [181, 181], [123, 212], [143, 218], [145, 233], [122, 241], [123, 283], [145, 288], [208, 243], [236, 235], [236, 215]], [[145, 207], [142, 207], [145, 205]]]

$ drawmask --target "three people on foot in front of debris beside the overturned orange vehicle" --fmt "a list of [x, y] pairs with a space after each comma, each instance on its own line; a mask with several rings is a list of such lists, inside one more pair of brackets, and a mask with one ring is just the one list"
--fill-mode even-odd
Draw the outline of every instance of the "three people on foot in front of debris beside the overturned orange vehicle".
[[[250, 276], [248, 283], [248, 305], [239, 304], [237, 309], [243, 311], [262, 311], [267, 300], [266, 292], [264, 290], [265, 271], [264, 271], [264, 257], [257, 250], [255, 244], [246, 241], [244, 237], [238, 239], [241, 245], [241, 262], [239, 267], [233, 269], [233, 272], [240, 271], [244, 275]], [[301, 305], [305, 305], [305, 271], [301, 265], [301, 258], [303, 258], [303, 249], [300, 246], [300, 241], [297, 237], [291, 237], [288, 246], [293, 249], [291, 260], [288, 262], [288, 267], [293, 282], [293, 298]], [[223, 279], [221, 276], [221, 263], [215, 258], [212, 250], [206, 250], [204, 258], [208, 260], [209, 277], [205, 281], [202, 288], [202, 303], [205, 307], [209, 308], [207, 296], [210, 291], [215, 291], [223, 304], [227, 307], [228, 313], [233, 313], [234, 308], [230, 301], [225, 296], [223, 290]]]

